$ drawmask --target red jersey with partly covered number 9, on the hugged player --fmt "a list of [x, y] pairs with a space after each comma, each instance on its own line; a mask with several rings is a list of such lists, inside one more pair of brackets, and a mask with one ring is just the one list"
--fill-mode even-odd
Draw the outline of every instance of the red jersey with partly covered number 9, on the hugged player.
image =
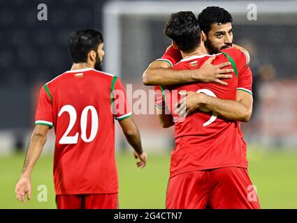
[[[200, 68], [210, 55], [183, 59], [175, 70]], [[179, 84], [161, 87], [167, 107], [175, 119], [175, 150], [171, 155], [171, 176], [187, 171], [219, 167], [247, 167], [246, 144], [240, 131], [240, 122], [228, 121], [215, 112], [197, 109], [187, 118], [175, 114], [174, 105], [181, 99], [180, 91], [198, 91], [212, 97], [236, 100], [238, 73], [245, 71], [246, 57], [238, 49], [224, 49], [217, 54], [213, 64], [231, 61], [235, 70], [228, 86], [214, 83]], [[227, 68], [231, 68], [227, 67]], [[252, 88], [252, 77], [244, 79], [247, 89]], [[157, 105], [160, 102], [156, 102]]]

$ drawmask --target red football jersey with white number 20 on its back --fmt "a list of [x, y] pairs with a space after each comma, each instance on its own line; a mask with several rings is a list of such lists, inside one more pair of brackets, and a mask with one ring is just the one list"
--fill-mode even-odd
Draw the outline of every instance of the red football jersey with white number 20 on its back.
[[114, 118], [129, 116], [122, 83], [105, 72], [70, 70], [41, 88], [35, 123], [55, 128], [56, 194], [118, 192]]

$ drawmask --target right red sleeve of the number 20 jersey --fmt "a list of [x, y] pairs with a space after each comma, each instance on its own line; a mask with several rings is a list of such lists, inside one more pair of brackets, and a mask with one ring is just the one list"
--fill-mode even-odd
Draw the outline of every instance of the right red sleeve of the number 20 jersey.
[[115, 119], [121, 121], [125, 118], [131, 117], [132, 112], [127, 102], [126, 91], [119, 78], [115, 80], [113, 89], [113, 115]]

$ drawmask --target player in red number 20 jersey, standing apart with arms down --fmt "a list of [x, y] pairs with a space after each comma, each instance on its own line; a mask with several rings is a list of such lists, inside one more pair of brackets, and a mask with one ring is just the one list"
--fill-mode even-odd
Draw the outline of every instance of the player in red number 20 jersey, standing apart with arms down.
[[48, 130], [54, 127], [57, 208], [117, 208], [115, 119], [135, 150], [138, 167], [145, 167], [146, 153], [121, 81], [98, 70], [104, 55], [101, 33], [94, 29], [75, 30], [68, 47], [73, 60], [71, 70], [41, 87], [36, 127], [15, 187], [16, 197], [24, 201], [27, 194], [30, 199], [31, 171]]

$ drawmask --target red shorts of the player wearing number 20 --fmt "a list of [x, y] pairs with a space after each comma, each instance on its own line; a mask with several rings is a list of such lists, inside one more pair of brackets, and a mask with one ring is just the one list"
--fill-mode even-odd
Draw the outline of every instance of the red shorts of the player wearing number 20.
[[58, 209], [117, 209], [117, 194], [56, 195]]

